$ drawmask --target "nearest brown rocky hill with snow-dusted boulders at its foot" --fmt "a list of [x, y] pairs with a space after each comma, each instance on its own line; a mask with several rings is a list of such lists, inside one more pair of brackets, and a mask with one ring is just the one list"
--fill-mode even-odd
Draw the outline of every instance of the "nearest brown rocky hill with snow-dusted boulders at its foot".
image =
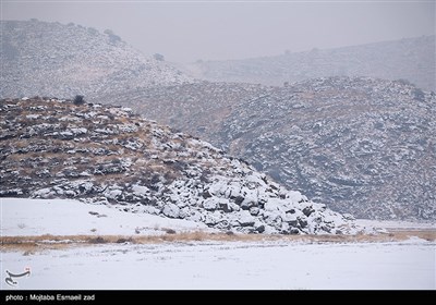
[[128, 108], [0, 101], [0, 194], [69, 197], [249, 233], [355, 233], [351, 216]]

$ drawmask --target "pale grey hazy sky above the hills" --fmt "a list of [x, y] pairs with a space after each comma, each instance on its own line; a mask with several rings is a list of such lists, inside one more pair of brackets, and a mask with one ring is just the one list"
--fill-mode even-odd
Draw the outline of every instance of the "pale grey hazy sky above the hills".
[[435, 34], [432, 1], [1, 1], [2, 20], [112, 29], [166, 60], [241, 59]]

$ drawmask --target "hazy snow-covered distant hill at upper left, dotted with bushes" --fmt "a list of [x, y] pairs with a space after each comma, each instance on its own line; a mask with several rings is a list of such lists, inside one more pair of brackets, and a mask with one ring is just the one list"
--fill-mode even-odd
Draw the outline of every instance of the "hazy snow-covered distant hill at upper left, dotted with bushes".
[[0, 97], [85, 95], [190, 82], [111, 30], [39, 21], [1, 21]]

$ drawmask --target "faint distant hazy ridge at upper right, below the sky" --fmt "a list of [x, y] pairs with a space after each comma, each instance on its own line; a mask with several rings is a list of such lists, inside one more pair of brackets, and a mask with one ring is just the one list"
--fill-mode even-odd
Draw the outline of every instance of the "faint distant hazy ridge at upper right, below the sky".
[[[279, 85], [322, 76], [371, 76], [408, 80], [436, 90], [435, 36], [422, 36], [336, 49], [287, 52], [276, 57], [199, 61], [183, 69], [215, 82]], [[182, 68], [182, 66], [181, 66]]]

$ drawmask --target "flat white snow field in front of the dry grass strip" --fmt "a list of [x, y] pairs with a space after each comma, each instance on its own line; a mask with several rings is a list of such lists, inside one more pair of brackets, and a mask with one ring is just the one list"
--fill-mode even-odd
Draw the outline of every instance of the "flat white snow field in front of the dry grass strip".
[[20, 289], [436, 289], [435, 244], [168, 243], [2, 253]]

